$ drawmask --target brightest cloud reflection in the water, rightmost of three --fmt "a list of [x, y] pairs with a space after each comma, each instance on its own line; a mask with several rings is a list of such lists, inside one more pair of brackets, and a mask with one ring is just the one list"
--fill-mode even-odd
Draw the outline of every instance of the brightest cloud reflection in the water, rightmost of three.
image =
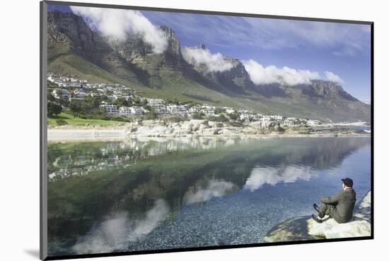
[[291, 183], [298, 179], [308, 181], [311, 176], [313, 176], [313, 171], [310, 166], [257, 166], [252, 169], [250, 177], [245, 183], [245, 188], [253, 191], [264, 184], [274, 186], [280, 182]]

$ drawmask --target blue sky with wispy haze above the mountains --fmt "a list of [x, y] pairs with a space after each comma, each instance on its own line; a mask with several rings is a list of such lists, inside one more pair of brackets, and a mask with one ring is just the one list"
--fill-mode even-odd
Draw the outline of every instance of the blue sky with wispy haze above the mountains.
[[[69, 6], [49, 6], [52, 9], [71, 11]], [[330, 71], [343, 80], [344, 90], [370, 102], [370, 25], [161, 11], [141, 14], [153, 25], [172, 28], [182, 47], [205, 44], [211, 53], [252, 59], [264, 67], [314, 71], [322, 78]]]

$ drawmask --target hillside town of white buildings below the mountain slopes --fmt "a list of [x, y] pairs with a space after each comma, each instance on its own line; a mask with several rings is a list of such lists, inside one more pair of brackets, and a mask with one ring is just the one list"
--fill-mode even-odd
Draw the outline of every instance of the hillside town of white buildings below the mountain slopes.
[[[49, 85], [48, 91], [55, 99], [71, 102], [79, 102], [86, 97], [105, 97], [100, 102], [100, 109], [105, 111], [107, 116], [142, 116], [150, 111], [155, 112], [158, 117], [182, 116], [187, 119], [234, 119], [243, 123], [258, 122], [264, 128], [277, 124], [277, 126], [318, 126], [321, 121], [312, 119], [298, 119], [281, 115], [264, 115], [245, 108], [217, 107], [210, 104], [181, 103], [178, 101], [166, 101], [144, 97], [137, 90], [120, 84], [88, 83], [88, 80], [66, 77], [64, 75], [47, 73]], [[54, 87], [53, 87], [54, 86]], [[131, 106], [115, 105], [118, 100], [127, 101]], [[138, 105], [134, 105], [137, 101]]]

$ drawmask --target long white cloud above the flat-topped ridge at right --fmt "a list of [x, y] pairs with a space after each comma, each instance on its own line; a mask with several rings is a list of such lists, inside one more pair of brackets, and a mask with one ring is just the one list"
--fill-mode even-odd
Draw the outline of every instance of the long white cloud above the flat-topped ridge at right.
[[252, 83], [257, 85], [270, 83], [282, 85], [309, 84], [310, 80], [320, 79], [319, 73], [315, 71], [296, 70], [286, 66], [283, 68], [277, 68], [276, 66], [264, 67], [252, 59], [243, 61], [243, 65], [248, 71]]

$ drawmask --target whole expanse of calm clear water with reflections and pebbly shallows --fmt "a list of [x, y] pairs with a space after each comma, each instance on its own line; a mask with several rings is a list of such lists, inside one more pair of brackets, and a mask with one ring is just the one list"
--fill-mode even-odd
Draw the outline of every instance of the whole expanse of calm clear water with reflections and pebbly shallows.
[[180, 138], [50, 143], [50, 255], [261, 243], [354, 180], [370, 138]]

